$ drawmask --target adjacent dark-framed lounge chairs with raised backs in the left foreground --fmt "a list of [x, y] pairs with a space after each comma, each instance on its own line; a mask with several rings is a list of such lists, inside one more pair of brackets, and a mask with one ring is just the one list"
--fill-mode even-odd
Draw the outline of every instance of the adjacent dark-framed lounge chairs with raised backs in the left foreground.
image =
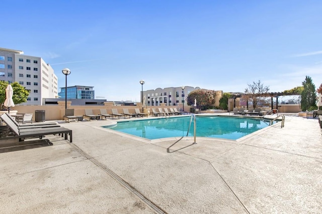
[[72, 130], [61, 127], [56, 122], [39, 123], [39, 124], [19, 124], [11, 115], [5, 113], [0, 116], [1, 120], [6, 123], [0, 127], [0, 140], [17, 139], [24, 141], [25, 138], [42, 139], [44, 135], [59, 134], [69, 142], [72, 142]]

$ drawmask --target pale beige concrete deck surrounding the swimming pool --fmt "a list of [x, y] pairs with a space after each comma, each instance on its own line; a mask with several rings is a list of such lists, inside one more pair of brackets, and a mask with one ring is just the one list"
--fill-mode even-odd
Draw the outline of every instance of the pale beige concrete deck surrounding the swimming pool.
[[72, 143], [49, 135], [42, 144], [0, 149], [0, 213], [322, 210], [317, 119], [286, 116], [284, 128], [239, 140], [197, 137], [196, 144], [100, 127], [115, 121], [61, 123], [73, 130]]

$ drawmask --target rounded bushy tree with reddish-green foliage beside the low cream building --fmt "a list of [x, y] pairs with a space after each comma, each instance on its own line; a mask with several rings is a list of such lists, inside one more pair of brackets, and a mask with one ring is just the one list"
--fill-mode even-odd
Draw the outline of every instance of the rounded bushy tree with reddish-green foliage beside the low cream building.
[[196, 99], [197, 106], [205, 106], [207, 108], [215, 104], [215, 95], [216, 92], [214, 90], [197, 89], [189, 93], [187, 103], [188, 105], [193, 105]]

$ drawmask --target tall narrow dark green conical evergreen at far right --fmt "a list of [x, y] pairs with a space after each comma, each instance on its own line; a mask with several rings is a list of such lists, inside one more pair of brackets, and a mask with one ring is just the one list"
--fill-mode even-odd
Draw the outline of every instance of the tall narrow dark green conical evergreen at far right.
[[301, 92], [301, 109], [302, 111], [316, 109], [316, 94], [315, 85], [309, 76], [305, 77], [304, 82], [302, 82], [303, 91]]

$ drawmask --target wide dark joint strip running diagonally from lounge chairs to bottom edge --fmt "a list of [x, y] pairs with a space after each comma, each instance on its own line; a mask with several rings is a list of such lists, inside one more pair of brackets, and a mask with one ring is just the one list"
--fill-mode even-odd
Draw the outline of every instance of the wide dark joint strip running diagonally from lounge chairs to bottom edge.
[[79, 153], [83, 154], [87, 159], [92, 161], [95, 165], [102, 168], [105, 172], [107, 172], [111, 177], [113, 177], [116, 181], [119, 182], [125, 189], [127, 189], [132, 194], [136, 195], [138, 198], [140, 198], [148, 207], [150, 207], [152, 210], [154, 210], [156, 213], [160, 214], [167, 214], [165, 210], [163, 210], [161, 207], [156, 205], [154, 202], [152, 202], [150, 199], [145, 197], [141, 192], [139, 192], [135, 187], [133, 187], [131, 184], [129, 184], [127, 181], [123, 180], [120, 176], [118, 176], [116, 173], [114, 173], [112, 170], [107, 168], [103, 163], [96, 160], [94, 157], [83, 151], [81, 148], [76, 146], [73, 143], [70, 143], [70, 145], [76, 149]]

